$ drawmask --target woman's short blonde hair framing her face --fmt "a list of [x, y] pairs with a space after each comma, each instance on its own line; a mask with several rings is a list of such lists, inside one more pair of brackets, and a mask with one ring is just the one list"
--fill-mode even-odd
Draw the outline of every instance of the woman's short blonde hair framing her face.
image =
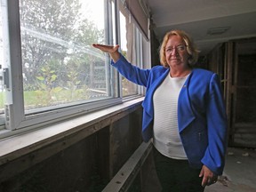
[[194, 44], [192, 38], [188, 36], [188, 34], [185, 31], [178, 30], [178, 29], [171, 30], [165, 34], [163, 42], [161, 44], [161, 48], [160, 48], [160, 63], [165, 68], [169, 68], [169, 65], [165, 58], [165, 47], [170, 36], [180, 36], [183, 39], [187, 47], [187, 52], [189, 54], [188, 65], [190, 67], [195, 65], [198, 59], [198, 53], [199, 53], [199, 51], [196, 49], [196, 44]]

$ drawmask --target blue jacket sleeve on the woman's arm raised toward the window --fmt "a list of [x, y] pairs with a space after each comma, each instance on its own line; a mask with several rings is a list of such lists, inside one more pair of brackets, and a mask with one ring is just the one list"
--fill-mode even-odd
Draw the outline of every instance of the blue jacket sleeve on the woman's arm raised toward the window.
[[150, 69], [138, 68], [128, 62], [121, 53], [120, 55], [120, 59], [117, 60], [116, 63], [114, 63], [112, 60], [111, 65], [129, 81], [132, 81], [134, 84], [140, 84], [146, 87]]

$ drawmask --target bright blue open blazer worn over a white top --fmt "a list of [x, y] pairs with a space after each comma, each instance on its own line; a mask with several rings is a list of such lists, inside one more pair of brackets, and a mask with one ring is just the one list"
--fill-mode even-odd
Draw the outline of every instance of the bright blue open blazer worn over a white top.
[[[111, 64], [125, 78], [147, 88], [142, 102], [142, 137], [148, 142], [153, 135], [153, 94], [169, 75], [170, 68], [137, 68], [125, 60], [123, 55]], [[199, 68], [192, 70], [180, 91], [178, 126], [190, 166], [200, 169], [204, 164], [215, 174], [221, 175], [225, 164], [228, 128], [217, 74]]]

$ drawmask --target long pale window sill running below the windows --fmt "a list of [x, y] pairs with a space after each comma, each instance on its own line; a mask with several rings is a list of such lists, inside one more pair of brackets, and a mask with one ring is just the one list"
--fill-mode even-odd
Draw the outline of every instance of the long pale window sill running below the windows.
[[[33, 132], [26, 132], [0, 140], [0, 165], [11, 162], [20, 156], [26, 156], [37, 149], [49, 146], [53, 142], [56, 143], [56, 141], [60, 142], [58, 142], [59, 144], [52, 145], [52, 148], [55, 150], [48, 148], [48, 151], [52, 150], [56, 153], [56, 150], [68, 148], [77, 141], [83, 140], [92, 133], [108, 126], [113, 121], [140, 108], [143, 99], [144, 97], [128, 100], [111, 108], [104, 108], [84, 116], [62, 121], [59, 124], [52, 124]], [[75, 137], [70, 137], [72, 135]], [[51, 156], [51, 152], [48, 152], [47, 155]], [[47, 155], [44, 153], [44, 157], [41, 156], [40, 160], [46, 158]], [[40, 160], [38, 159], [37, 161]]]

